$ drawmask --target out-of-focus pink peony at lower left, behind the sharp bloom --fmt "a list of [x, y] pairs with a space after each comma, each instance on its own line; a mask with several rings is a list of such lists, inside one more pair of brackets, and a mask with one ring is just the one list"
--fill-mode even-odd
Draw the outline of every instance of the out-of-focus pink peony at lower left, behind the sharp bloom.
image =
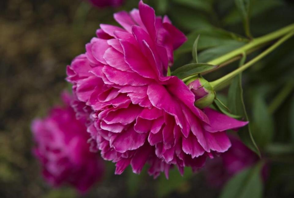
[[83, 193], [100, 180], [104, 164], [100, 156], [89, 151], [89, 133], [69, 106], [72, 99], [67, 94], [63, 99], [66, 107], [55, 107], [46, 118], [33, 121], [33, 151], [48, 183], [68, 183]]

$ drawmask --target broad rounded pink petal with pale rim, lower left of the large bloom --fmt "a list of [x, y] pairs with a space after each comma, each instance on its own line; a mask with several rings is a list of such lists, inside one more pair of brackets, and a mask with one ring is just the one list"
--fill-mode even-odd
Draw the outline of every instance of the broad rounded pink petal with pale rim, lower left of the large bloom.
[[112, 145], [116, 151], [124, 153], [143, 146], [145, 139], [145, 133], [140, 134], [135, 132], [133, 128], [129, 128], [122, 133], [118, 133], [118, 136], [113, 140]]

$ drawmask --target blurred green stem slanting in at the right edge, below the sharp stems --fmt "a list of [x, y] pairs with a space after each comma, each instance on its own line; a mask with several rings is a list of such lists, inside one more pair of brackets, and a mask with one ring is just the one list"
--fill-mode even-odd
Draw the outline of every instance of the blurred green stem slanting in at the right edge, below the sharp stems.
[[281, 92], [279, 92], [278, 95], [269, 104], [268, 110], [270, 114], [273, 114], [278, 109], [278, 107], [285, 101], [288, 95], [292, 93], [293, 88], [293, 81], [290, 81], [285, 85]]

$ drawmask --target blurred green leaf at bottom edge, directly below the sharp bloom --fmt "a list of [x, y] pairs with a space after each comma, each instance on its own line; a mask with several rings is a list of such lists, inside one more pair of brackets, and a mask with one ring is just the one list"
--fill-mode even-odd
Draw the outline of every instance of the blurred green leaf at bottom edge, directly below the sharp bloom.
[[168, 180], [163, 174], [160, 175], [156, 183], [156, 194], [158, 197], [167, 196], [169, 193], [176, 190], [182, 191], [185, 184], [188, 183], [189, 179], [193, 176], [192, 170], [190, 168], [185, 168], [184, 175], [181, 176], [177, 169], [171, 169], [169, 171]]

